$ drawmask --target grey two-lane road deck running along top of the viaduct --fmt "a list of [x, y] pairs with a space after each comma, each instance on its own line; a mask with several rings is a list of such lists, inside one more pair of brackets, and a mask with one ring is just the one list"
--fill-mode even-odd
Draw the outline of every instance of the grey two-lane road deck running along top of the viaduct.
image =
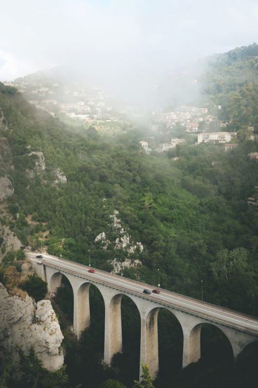
[[163, 289], [160, 289], [159, 294], [151, 293], [148, 295], [143, 293], [143, 290], [148, 289], [152, 291], [155, 287], [98, 269], [95, 269], [95, 273], [91, 274], [88, 270], [92, 267], [87, 265], [46, 254], [44, 254], [43, 259], [36, 259], [37, 255], [39, 255], [39, 253], [26, 253], [26, 256], [29, 259], [32, 259], [33, 261], [36, 260], [39, 264], [42, 263], [56, 268], [64, 274], [65, 272], [68, 272], [73, 275], [81, 276], [82, 278], [89, 280], [92, 284], [104, 284], [118, 291], [154, 301], [158, 303], [160, 307], [176, 308], [212, 322], [226, 324], [229, 327], [235, 327], [244, 332], [258, 335], [258, 320], [248, 315]]

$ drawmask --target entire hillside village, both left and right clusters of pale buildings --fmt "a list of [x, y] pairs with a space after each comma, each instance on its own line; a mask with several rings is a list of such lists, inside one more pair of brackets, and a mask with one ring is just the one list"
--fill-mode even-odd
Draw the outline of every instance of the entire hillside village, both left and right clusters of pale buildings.
[[[117, 123], [120, 126], [126, 118], [137, 119], [146, 115], [147, 110], [138, 108], [128, 103], [117, 105], [115, 101], [106, 94], [102, 87], [83, 87], [73, 83], [65, 85], [58, 82], [30, 81], [28, 79], [17, 79], [12, 85], [34, 105], [36, 109], [45, 110], [52, 116], [57, 116], [68, 122], [81, 122], [86, 126], [94, 125], [98, 131], [102, 131], [105, 123]], [[206, 104], [207, 105], [207, 104]], [[218, 111], [221, 105], [215, 107]], [[196, 145], [201, 143], [224, 143], [225, 151], [237, 147], [236, 132], [226, 132], [228, 122], [219, 120], [214, 114], [209, 114], [207, 107], [196, 107], [182, 105], [174, 111], [162, 112], [160, 107], [152, 109], [152, 128], [158, 129], [164, 140], [166, 129], [177, 134], [179, 137], [171, 137], [170, 141], [159, 143], [154, 136], [147, 136], [139, 142], [140, 147], [150, 154], [167, 151], [175, 148], [178, 144], [185, 142], [189, 135], [197, 137]], [[248, 127], [248, 136], [254, 140], [254, 128]], [[179, 135], [180, 134], [180, 135]], [[188, 135], [188, 136], [187, 136]], [[150, 139], [150, 144], [148, 140]], [[177, 158], [175, 158], [177, 159]]]

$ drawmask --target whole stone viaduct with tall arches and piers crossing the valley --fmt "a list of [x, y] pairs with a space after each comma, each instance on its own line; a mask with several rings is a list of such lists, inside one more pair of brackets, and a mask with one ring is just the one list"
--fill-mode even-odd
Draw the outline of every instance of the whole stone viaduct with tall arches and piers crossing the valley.
[[[33, 256], [32, 256], [33, 255]], [[89, 289], [91, 284], [101, 292], [105, 303], [105, 348], [104, 362], [111, 364], [112, 357], [122, 351], [121, 298], [126, 295], [137, 306], [141, 320], [140, 361], [148, 364], [152, 377], [158, 372], [158, 312], [161, 307], [169, 310], [178, 319], [183, 334], [182, 367], [200, 358], [200, 332], [204, 323], [212, 323], [228, 338], [236, 358], [249, 343], [258, 340], [258, 320], [221, 307], [197, 301], [193, 298], [161, 290], [161, 293], [146, 295], [143, 289], [153, 286], [136, 282], [118, 275], [90, 267], [44, 256], [35, 259], [27, 255], [37, 275], [47, 282], [48, 291], [56, 291], [65, 275], [74, 293], [74, 333], [79, 339], [82, 331], [90, 326]]]

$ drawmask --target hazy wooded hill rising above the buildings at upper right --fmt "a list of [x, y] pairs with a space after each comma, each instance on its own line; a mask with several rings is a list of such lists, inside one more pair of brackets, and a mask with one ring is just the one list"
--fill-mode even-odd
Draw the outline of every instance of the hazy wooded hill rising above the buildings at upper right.
[[233, 49], [207, 59], [205, 96], [221, 105], [217, 114], [230, 129], [258, 125], [258, 45]]

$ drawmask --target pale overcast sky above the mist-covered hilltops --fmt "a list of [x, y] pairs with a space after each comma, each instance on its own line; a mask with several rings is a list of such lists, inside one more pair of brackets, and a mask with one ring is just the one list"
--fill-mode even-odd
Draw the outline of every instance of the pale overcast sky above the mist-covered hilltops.
[[258, 0], [9, 0], [0, 81], [62, 64], [163, 71], [258, 43]]

